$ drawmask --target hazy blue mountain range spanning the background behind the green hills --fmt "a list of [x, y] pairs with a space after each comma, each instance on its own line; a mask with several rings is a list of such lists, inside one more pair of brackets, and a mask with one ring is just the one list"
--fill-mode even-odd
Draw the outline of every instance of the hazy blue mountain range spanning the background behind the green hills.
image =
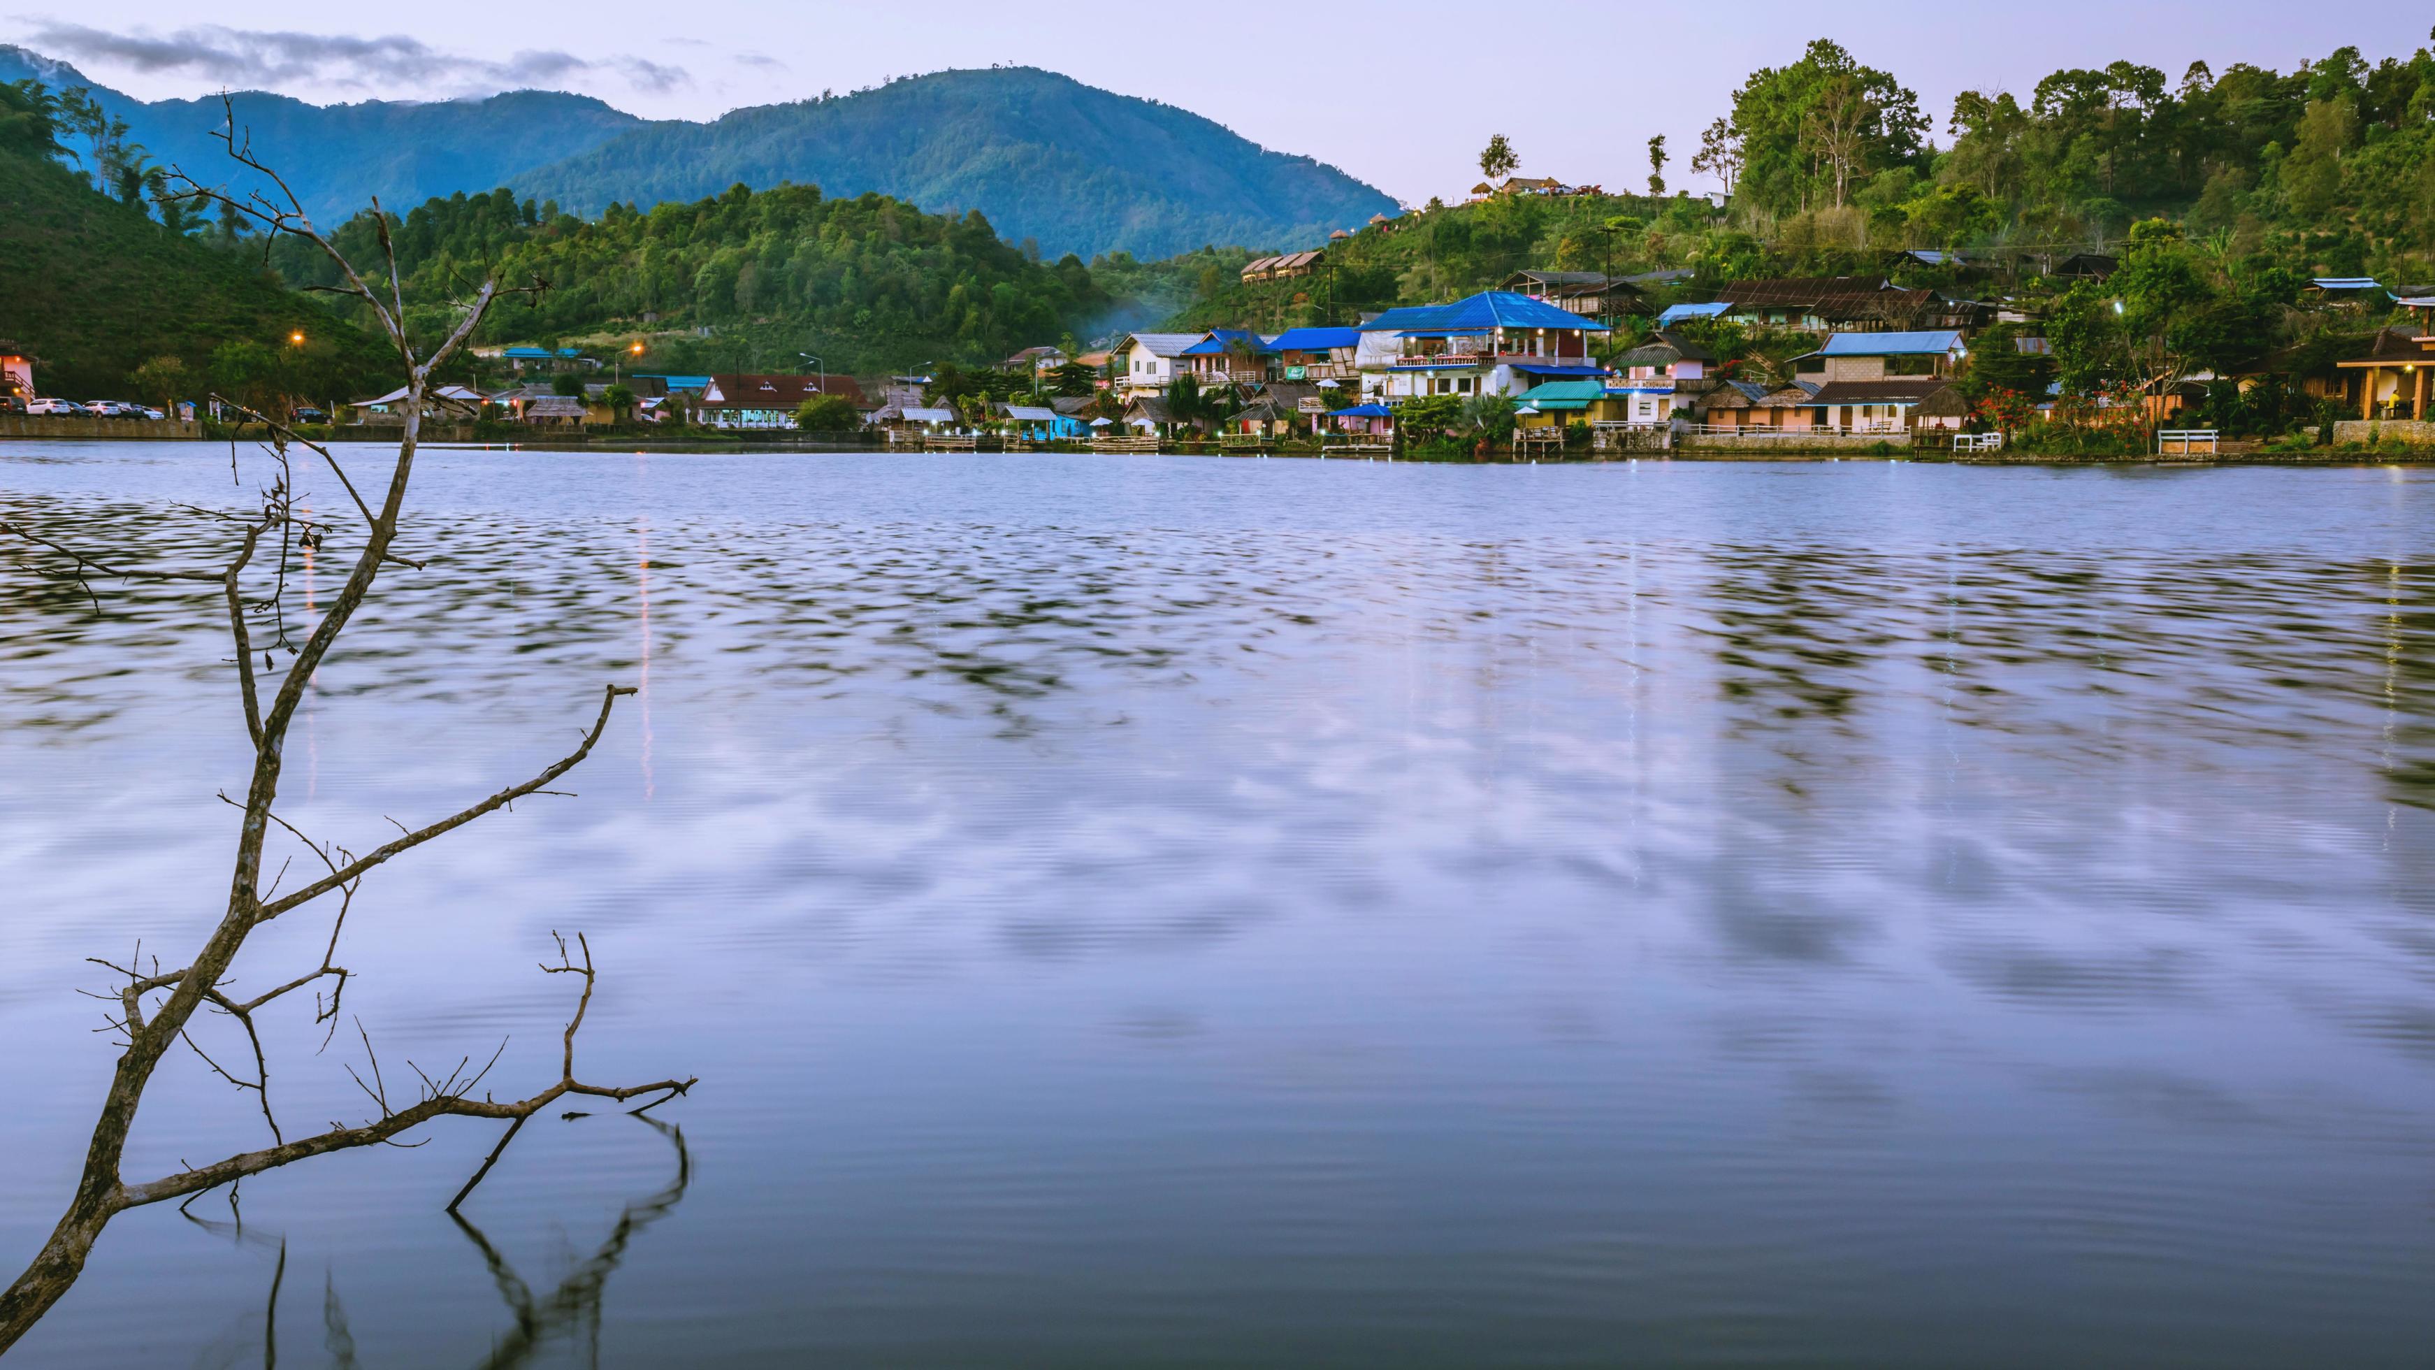
[[[219, 97], [136, 100], [73, 66], [0, 46], [0, 80], [83, 85], [158, 163], [226, 168]], [[1305, 156], [1261, 148], [1213, 119], [1037, 68], [940, 71], [852, 95], [735, 110], [706, 124], [645, 122], [589, 95], [307, 105], [234, 95], [253, 151], [314, 219], [375, 195], [407, 209], [506, 185], [594, 214], [650, 209], [728, 185], [879, 192], [930, 212], [979, 209], [1042, 253], [1161, 258], [1203, 243], [1293, 248], [1393, 214], [1395, 202]]]

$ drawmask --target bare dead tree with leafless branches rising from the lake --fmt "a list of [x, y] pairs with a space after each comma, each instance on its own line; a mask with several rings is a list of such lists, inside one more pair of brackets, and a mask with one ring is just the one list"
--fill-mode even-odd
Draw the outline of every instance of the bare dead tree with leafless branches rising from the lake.
[[[66, 1212], [58, 1219], [58, 1226], [51, 1229], [51, 1239], [41, 1246], [41, 1251], [24, 1268], [24, 1273], [17, 1275], [17, 1280], [10, 1282], [7, 1290], [0, 1290], [0, 1353], [15, 1346], [17, 1338], [22, 1338], [27, 1329], [32, 1329], [34, 1321], [41, 1319], [41, 1314], [49, 1312], [51, 1304], [56, 1304], [68, 1292], [78, 1273], [85, 1268], [85, 1260], [93, 1253], [93, 1243], [102, 1236], [102, 1229], [110, 1224], [112, 1217], [127, 1209], [156, 1205], [161, 1200], [192, 1197], [217, 1185], [229, 1185], [246, 1175], [273, 1170], [278, 1166], [287, 1166], [307, 1156], [348, 1151], [358, 1146], [375, 1146], [438, 1117], [487, 1117], [506, 1122], [509, 1132], [499, 1141], [499, 1149], [504, 1149], [506, 1139], [514, 1136], [514, 1132], [524, 1124], [524, 1119], [533, 1117], [538, 1110], [548, 1107], [553, 1100], [562, 1095], [572, 1093], [604, 1100], [636, 1100], [650, 1095], [650, 1102], [640, 1105], [648, 1110], [657, 1107], [667, 1097], [682, 1095], [694, 1083], [692, 1078], [687, 1080], [667, 1078], [648, 1085], [611, 1088], [611, 1085], [587, 1085], [575, 1078], [575, 1032], [582, 1027], [584, 1010], [592, 1005], [592, 986], [594, 986], [592, 949], [582, 937], [577, 937], [577, 949], [582, 954], [580, 961], [575, 959], [575, 954], [567, 951], [565, 942], [560, 939], [558, 964], [543, 966], [543, 971], [548, 973], [582, 976], [582, 995], [565, 1029], [560, 1078], [548, 1088], [531, 1093], [521, 1100], [494, 1100], [489, 1095], [472, 1097], [472, 1090], [487, 1076], [489, 1066], [468, 1073], [470, 1066], [468, 1059], [458, 1066], [458, 1071], [450, 1071], [446, 1078], [433, 1078], [433, 1073], [416, 1071], [419, 1088], [414, 1090], [414, 1100], [402, 1102], [399, 1107], [392, 1105], [390, 1090], [380, 1078], [380, 1061], [373, 1054], [370, 1034], [363, 1034], [363, 1049], [373, 1073], [373, 1083], [365, 1085], [365, 1095], [377, 1107], [375, 1117], [365, 1119], [360, 1127], [331, 1127], [329, 1132], [319, 1132], [314, 1136], [300, 1136], [295, 1141], [285, 1139], [285, 1134], [280, 1132], [278, 1117], [270, 1107], [268, 1059], [263, 1054], [253, 1015], [295, 990], [314, 986], [314, 1007], [317, 1007], [314, 1022], [329, 1022], [331, 1029], [336, 1029], [338, 1000], [346, 990], [348, 976], [353, 973], [336, 964], [338, 932], [346, 925], [346, 910], [363, 876], [373, 866], [380, 866], [382, 861], [412, 847], [421, 847], [424, 842], [431, 842], [443, 832], [463, 827], [475, 818], [506, 808], [516, 798], [545, 791], [550, 781], [575, 769], [592, 752], [601, 732], [609, 728], [609, 713], [616, 706], [618, 696], [633, 691], [623, 686], [606, 686], [601, 694], [599, 715], [594, 718], [582, 745], [575, 747], [570, 754], [560, 757], [558, 762], [543, 767], [533, 779], [506, 786], [499, 793], [470, 808], [463, 808], [419, 830], [404, 832], [402, 837], [385, 842], [370, 849], [368, 854], [358, 857], [338, 844], [309, 842], [304, 840], [302, 832], [290, 827], [285, 818], [278, 815], [275, 801], [280, 793], [280, 764], [285, 759], [287, 728], [304, 701], [307, 681], [312, 681], [314, 669], [321, 664], [321, 659], [336, 645], [338, 635], [353, 621], [356, 611], [363, 606], [365, 596], [373, 591], [380, 574], [387, 567], [419, 567], [419, 562], [412, 562], [397, 552], [397, 533], [399, 533], [399, 516], [404, 513], [407, 506], [407, 487], [414, 475], [414, 453], [416, 453], [416, 440], [421, 436], [424, 397], [431, 389], [431, 375], [468, 343], [472, 331], [482, 324], [482, 316], [489, 311], [492, 302], [497, 302], [502, 294], [538, 290], [538, 282], [516, 290], [502, 290], [497, 280], [482, 282], [482, 287], [470, 299], [460, 302], [455, 326], [448, 331], [448, 336], [441, 338], [429, 350], [416, 350], [414, 341], [407, 336], [404, 285], [399, 280], [394, 246], [390, 243], [387, 219], [377, 219], [380, 246], [387, 258], [385, 260], [387, 280], [382, 282], [385, 290], [375, 290], [375, 285], [365, 280], [346, 260], [346, 256], [338, 253], [338, 248], [326, 236], [321, 236], [321, 231], [312, 226], [312, 221], [302, 212], [302, 204], [295, 200], [292, 192], [287, 192], [285, 180], [280, 180], [278, 173], [256, 161], [251, 144], [236, 129], [234, 107], [229, 107], [229, 124], [219, 136], [226, 141], [229, 156], [236, 163], [261, 173], [273, 185], [278, 185], [282, 200], [270, 200], [263, 192], [256, 192], [246, 200], [236, 200], [234, 195], [209, 190], [178, 173], [178, 183], [183, 185], [180, 197], [234, 207], [239, 214], [246, 214], [263, 226], [265, 241], [275, 234], [297, 234], [319, 246], [324, 253], [329, 253], [329, 258], [338, 265], [343, 280], [343, 285], [334, 290], [338, 294], [360, 299], [368, 307], [368, 314], [380, 324], [380, 331], [385, 333], [390, 346], [397, 348], [399, 367], [407, 375], [404, 433], [399, 436], [397, 443], [397, 460], [390, 467], [387, 487], [375, 492], [377, 504], [373, 504], [365, 499], [363, 492], [358, 492], [356, 482], [343, 472], [343, 467], [326, 448], [307, 443], [304, 438], [292, 433], [275, 414], [258, 414], [241, 409], [248, 421], [261, 423], [265, 433], [265, 450], [275, 462], [275, 477], [273, 484], [263, 492], [263, 504], [258, 511], [229, 521], [236, 535], [236, 550], [231, 552], [229, 562], [222, 565], [219, 569], [161, 569], [161, 567], [122, 565], [119, 557], [110, 552], [88, 552], [80, 548], [71, 548], [63, 540], [51, 538], [41, 530], [0, 521], [0, 538], [15, 538], [29, 543], [32, 548], [37, 548], [39, 557], [56, 557], [56, 562], [51, 562], [46, 574], [75, 582], [88, 594], [93, 594], [95, 577], [219, 586], [219, 599], [224, 601], [229, 616], [229, 635], [236, 647], [236, 689], [244, 703], [246, 732], [253, 742], [253, 774], [246, 784], [246, 798], [244, 803], [229, 801], [244, 810], [244, 820], [236, 832], [236, 854], [229, 874], [226, 908], [219, 922], [212, 927], [209, 937], [205, 937], [202, 947], [183, 968], [163, 971], [158, 964], [153, 964], [151, 968], [136, 964], [110, 966], [112, 973], [124, 976], [124, 981], [114, 988], [114, 995], [110, 995], [114, 1005], [114, 1015], [110, 1022], [124, 1034], [124, 1051], [119, 1054], [117, 1068], [112, 1071], [110, 1090], [102, 1097], [100, 1117], [93, 1124], [93, 1139], [85, 1146], [83, 1173], [78, 1175], [75, 1192], [71, 1195]], [[375, 217], [377, 214], [380, 207], [375, 202]], [[292, 501], [290, 450], [295, 445], [309, 448], [321, 457], [324, 465], [329, 465], [329, 470], [346, 487], [356, 511], [363, 518], [363, 545], [356, 552], [346, 582], [334, 596], [329, 611], [312, 623], [302, 642], [287, 640], [285, 630], [287, 616], [280, 601], [280, 596], [285, 594], [287, 552], [297, 543], [319, 548], [321, 540], [331, 533], [331, 526], [314, 523], [312, 518], [302, 516]], [[275, 567], [258, 569], [256, 552], [263, 548], [265, 540], [275, 543], [278, 562]], [[261, 596], [248, 599], [246, 594], [248, 569], [253, 572], [256, 582], [263, 577], [270, 579], [268, 599]], [[263, 611], [275, 611], [278, 635], [273, 642], [258, 647], [253, 640], [253, 618]], [[270, 647], [285, 647], [290, 652], [285, 674], [278, 674]], [[261, 674], [256, 672], [258, 659], [261, 659]], [[270, 689], [268, 698], [263, 698], [268, 684], [265, 676], [275, 674], [278, 674], [275, 689]], [[287, 895], [273, 898], [273, 893], [263, 888], [263, 857], [268, 842], [278, 832], [285, 832], [287, 837], [302, 842], [304, 849], [324, 866], [324, 876]], [[256, 927], [280, 915], [295, 913], [304, 905], [329, 900], [331, 895], [336, 895], [336, 913], [331, 917], [329, 949], [324, 951], [319, 968], [312, 968], [302, 976], [278, 983], [275, 988], [268, 988], [248, 1000], [239, 1000], [224, 988], [239, 951], [246, 947], [246, 937]], [[321, 1000], [319, 993], [324, 981], [329, 981], [326, 1003]], [[246, 1029], [246, 1039], [253, 1049], [253, 1066], [256, 1066], [251, 1080], [231, 1071], [224, 1071], [217, 1061], [202, 1054], [202, 1046], [192, 1041], [190, 1024], [195, 1012], [202, 1010], [205, 1005], [226, 1012]], [[212, 1066], [212, 1071], [224, 1076], [231, 1085], [241, 1090], [253, 1090], [261, 1097], [263, 1119], [270, 1127], [273, 1146], [229, 1156], [209, 1166], [185, 1168], [178, 1170], [175, 1175], [163, 1175], [158, 1180], [127, 1183], [119, 1163], [127, 1151], [127, 1136], [134, 1129], [136, 1110], [144, 1102], [144, 1090], [151, 1083], [153, 1073], [158, 1071], [163, 1056], [180, 1041], [192, 1046], [195, 1054], [202, 1056]], [[492, 1061], [497, 1061], [497, 1056], [492, 1056]], [[497, 1161], [497, 1151], [492, 1151], [492, 1161]], [[485, 1161], [482, 1170], [485, 1173], [489, 1170], [489, 1161]], [[477, 1180], [480, 1175], [475, 1175], [475, 1183]], [[465, 1192], [470, 1190], [472, 1185], [458, 1192], [455, 1202], [463, 1202]], [[450, 1202], [450, 1207], [455, 1207], [455, 1202]]]

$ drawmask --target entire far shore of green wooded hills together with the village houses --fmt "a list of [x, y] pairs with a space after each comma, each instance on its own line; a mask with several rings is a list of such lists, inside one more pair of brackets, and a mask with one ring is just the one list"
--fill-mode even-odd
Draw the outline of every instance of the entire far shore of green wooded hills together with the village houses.
[[[29, 127], [93, 122], [75, 92], [0, 90]], [[1824, 139], [1829, 114], [1846, 134]], [[1751, 73], [1702, 139], [1690, 168], [1719, 192], [1668, 192], [1666, 139], [1648, 141], [1644, 195], [1522, 175], [1495, 136], [1454, 202], [1293, 251], [1047, 260], [979, 212], [816, 185], [597, 219], [502, 187], [390, 221], [409, 309], [475, 268], [548, 282], [485, 326], [436, 399], [438, 419], [497, 436], [1595, 455], [2435, 433], [2428, 49], [2374, 66], [2340, 49], [2289, 73], [2192, 63], [2179, 88], [2133, 63], [2058, 71], [2026, 100], [1965, 92], [1953, 141], [1929, 134], [1892, 73], [1819, 39]], [[68, 156], [56, 136], [27, 151]], [[158, 202], [166, 256], [251, 256], [270, 265], [256, 292], [329, 285], [292, 241], [185, 221], [144, 190], [139, 153], [95, 158], [129, 168], [117, 207]], [[66, 207], [66, 170], [37, 170], [27, 185], [63, 207], [29, 251], [107, 219]], [[382, 231], [365, 212], [336, 241], [363, 253]], [[54, 294], [58, 319], [93, 297]], [[122, 333], [107, 353], [83, 324], [15, 346], [0, 404], [73, 411], [37, 389], [66, 355], [68, 384], [124, 382], [100, 402], [112, 414], [212, 389], [317, 421], [399, 419], [399, 394], [360, 384], [377, 372], [346, 307], [261, 338], [178, 338], [144, 365], [127, 311], [105, 321]]]

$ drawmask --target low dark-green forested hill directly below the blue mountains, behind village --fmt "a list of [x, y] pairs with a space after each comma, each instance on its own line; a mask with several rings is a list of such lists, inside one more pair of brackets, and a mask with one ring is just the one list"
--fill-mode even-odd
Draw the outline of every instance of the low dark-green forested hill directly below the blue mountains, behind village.
[[[506, 190], [453, 195], [412, 209], [394, 241], [419, 326], [438, 326], [468, 280], [497, 270], [548, 290], [494, 309], [480, 343], [650, 333], [660, 370], [796, 370], [796, 353], [833, 372], [993, 363], [1088, 336], [1115, 309], [1079, 258], [1030, 260], [979, 212], [830, 200], [811, 185], [738, 185], [648, 214], [611, 204], [599, 219]], [[343, 224], [338, 246], [377, 260], [370, 214]], [[292, 285], [331, 282], [326, 258], [295, 238], [273, 260]]]

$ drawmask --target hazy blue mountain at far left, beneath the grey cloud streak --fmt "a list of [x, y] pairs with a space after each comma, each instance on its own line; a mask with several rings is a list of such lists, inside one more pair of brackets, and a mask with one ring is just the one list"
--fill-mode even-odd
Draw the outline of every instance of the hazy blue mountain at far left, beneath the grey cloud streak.
[[[0, 83], [24, 78], [51, 90], [88, 88], [105, 114], [127, 122], [124, 141], [153, 163], [175, 163], [212, 183], [236, 170], [212, 139], [226, 127], [219, 97], [146, 102], [90, 83], [73, 66], [0, 46]], [[244, 90], [234, 100], [253, 148], [324, 224], [346, 219], [375, 195], [382, 204], [421, 204], [455, 190], [489, 190], [643, 124], [589, 95], [555, 90], [431, 105], [307, 105], [263, 90]], [[78, 134], [66, 141], [88, 165], [95, 161]]]

